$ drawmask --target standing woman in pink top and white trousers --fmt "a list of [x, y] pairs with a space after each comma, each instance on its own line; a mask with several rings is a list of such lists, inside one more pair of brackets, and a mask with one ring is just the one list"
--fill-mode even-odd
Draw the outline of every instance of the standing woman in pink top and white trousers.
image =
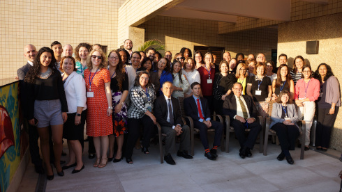
[[298, 107], [299, 119], [305, 120], [305, 150], [308, 150], [310, 143], [310, 130], [315, 115], [315, 100], [320, 96], [320, 81], [311, 77], [311, 66], [304, 65], [302, 70], [302, 79], [297, 81], [295, 86], [295, 101]]

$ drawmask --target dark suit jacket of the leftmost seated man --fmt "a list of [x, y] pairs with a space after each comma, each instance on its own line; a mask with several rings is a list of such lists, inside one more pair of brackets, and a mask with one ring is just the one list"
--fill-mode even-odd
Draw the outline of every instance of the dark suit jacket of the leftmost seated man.
[[[183, 121], [181, 120], [181, 110], [179, 109], [178, 99], [171, 97], [172, 108], [173, 108], [173, 119], [174, 125], [183, 126]], [[161, 126], [172, 127], [173, 125], [167, 121], [168, 119], [168, 103], [165, 100], [165, 96], [161, 95], [156, 99], [154, 103], [154, 116], [157, 122]]]

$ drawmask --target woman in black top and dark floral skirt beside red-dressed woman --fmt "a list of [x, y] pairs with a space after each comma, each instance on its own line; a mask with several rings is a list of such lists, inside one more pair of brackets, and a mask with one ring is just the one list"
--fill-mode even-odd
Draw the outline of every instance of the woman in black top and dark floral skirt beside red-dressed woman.
[[110, 51], [108, 64], [110, 71], [110, 89], [112, 90], [112, 105], [114, 108], [114, 113], [112, 114], [114, 134], [109, 136], [108, 161], [113, 160], [114, 141], [117, 138], [117, 154], [113, 160], [114, 163], [117, 163], [121, 161], [124, 134], [127, 133], [127, 106], [125, 100], [128, 95], [128, 75], [121, 63], [118, 51]]

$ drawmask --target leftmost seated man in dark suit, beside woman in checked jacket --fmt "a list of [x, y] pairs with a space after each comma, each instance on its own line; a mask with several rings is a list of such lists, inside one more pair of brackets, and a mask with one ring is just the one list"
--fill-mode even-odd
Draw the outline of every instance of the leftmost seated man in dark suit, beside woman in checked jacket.
[[176, 163], [172, 159], [170, 152], [174, 151], [176, 136], [181, 137], [177, 156], [184, 157], [185, 159], [193, 159], [188, 154], [188, 150], [190, 150], [190, 129], [188, 125], [183, 125], [178, 100], [171, 97], [173, 92], [172, 83], [165, 81], [162, 91], [163, 95], [156, 99], [154, 115], [156, 116], [156, 121], [161, 125], [161, 131], [163, 134], [166, 134], [164, 159], [166, 163], [174, 165]]

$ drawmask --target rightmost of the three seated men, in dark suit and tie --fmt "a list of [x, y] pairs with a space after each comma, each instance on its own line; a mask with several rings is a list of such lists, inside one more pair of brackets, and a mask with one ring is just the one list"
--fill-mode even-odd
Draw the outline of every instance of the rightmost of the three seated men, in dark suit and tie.
[[[253, 104], [252, 97], [241, 95], [241, 83], [234, 83], [232, 92], [225, 97], [223, 103], [223, 114], [229, 115], [230, 125], [235, 129], [235, 135], [240, 143], [239, 156], [244, 159], [251, 157], [255, 140], [262, 129], [258, 120], [257, 109]], [[248, 138], [245, 136], [245, 129], [251, 129]], [[261, 141], [260, 141], [261, 142]]]

